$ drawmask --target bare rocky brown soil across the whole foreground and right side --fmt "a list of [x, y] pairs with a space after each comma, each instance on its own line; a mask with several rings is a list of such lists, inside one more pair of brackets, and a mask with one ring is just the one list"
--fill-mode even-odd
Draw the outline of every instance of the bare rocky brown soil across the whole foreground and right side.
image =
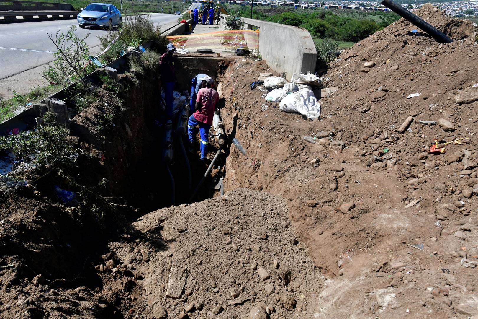
[[36, 193], [3, 201], [1, 317], [477, 316], [477, 27], [416, 13], [454, 42], [403, 19], [359, 42], [319, 121], [250, 90], [265, 62], [231, 62], [221, 115], [247, 155], [231, 148], [222, 197], [103, 236]]

